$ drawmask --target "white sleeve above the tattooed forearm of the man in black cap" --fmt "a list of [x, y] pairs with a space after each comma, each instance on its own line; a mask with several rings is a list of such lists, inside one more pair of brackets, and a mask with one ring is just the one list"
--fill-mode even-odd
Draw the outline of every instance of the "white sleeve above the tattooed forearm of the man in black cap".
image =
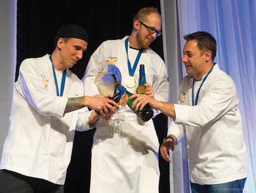
[[57, 97], [47, 91], [40, 67], [33, 60], [26, 59], [21, 63], [15, 89], [41, 115], [63, 117], [68, 98]]

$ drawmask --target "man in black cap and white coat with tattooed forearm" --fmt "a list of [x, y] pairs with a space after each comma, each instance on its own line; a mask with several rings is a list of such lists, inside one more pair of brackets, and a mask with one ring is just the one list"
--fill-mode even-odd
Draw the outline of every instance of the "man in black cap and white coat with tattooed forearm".
[[100, 116], [115, 112], [111, 104], [119, 107], [113, 100], [84, 96], [82, 81], [69, 70], [87, 44], [84, 28], [65, 25], [51, 55], [21, 64], [2, 151], [0, 192], [64, 192], [75, 130], [94, 128]]

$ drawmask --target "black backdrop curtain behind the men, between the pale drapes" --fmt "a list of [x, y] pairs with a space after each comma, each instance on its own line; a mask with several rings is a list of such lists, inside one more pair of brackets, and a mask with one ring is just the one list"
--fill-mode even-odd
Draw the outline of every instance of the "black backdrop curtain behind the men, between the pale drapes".
[[[85, 68], [92, 53], [105, 40], [115, 40], [130, 35], [132, 19], [143, 7], [160, 9], [160, 0], [113, 0], [113, 1], [17, 1], [17, 70], [25, 58], [42, 57], [52, 54], [54, 38], [62, 25], [76, 24], [87, 29], [89, 43], [82, 60], [71, 68], [79, 78], [84, 76]], [[151, 44], [152, 50], [164, 60], [162, 36]], [[153, 119], [159, 143], [167, 135], [167, 116]], [[91, 148], [95, 128], [87, 132], [76, 132], [73, 143], [71, 163], [65, 182], [65, 193], [89, 192], [91, 174]], [[169, 192], [169, 163], [159, 155], [161, 172], [159, 192]], [[99, 184], [100, 185], [100, 184]], [[99, 192], [101, 193], [101, 192]], [[139, 193], [139, 192], [138, 192]]]

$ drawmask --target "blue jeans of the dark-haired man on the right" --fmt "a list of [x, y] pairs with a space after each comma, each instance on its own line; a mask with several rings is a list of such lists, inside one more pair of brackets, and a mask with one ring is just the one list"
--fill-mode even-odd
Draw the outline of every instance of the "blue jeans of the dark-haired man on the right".
[[247, 178], [213, 185], [200, 185], [190, 182], [192, 193], [242, 193]]

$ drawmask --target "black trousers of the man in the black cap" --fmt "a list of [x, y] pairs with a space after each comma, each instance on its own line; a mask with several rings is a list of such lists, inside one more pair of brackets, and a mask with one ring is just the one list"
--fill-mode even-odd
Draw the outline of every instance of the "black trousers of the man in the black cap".
[[64, 185], [53, 184], [40, 178], [32, 178], [6, 169], [0, 170], [1, 193], [63, 193]]

